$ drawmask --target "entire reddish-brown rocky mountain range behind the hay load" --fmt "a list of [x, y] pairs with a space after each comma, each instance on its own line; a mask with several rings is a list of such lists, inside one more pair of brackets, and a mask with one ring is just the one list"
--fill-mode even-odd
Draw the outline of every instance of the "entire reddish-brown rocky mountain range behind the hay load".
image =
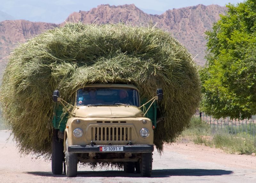
[[[167, 30], [173, 34], [193, 54], [199, 65], [204, 65], [205, 60], [205, 35], [210, 30], [212, 23], [219, 20], [219, 14], [225, 14], [227, 10], [219, 5], [197, 5], [180, 9], [172, 9], [161, 15], [151, 15], [143, 12], [134, 4], [130, 5], [99, 5], [90, 11], [79, 11], [70, 14], [66, 22], [81, 21], [83, 23], [115, 23], [125, 22], [131, 25], [147, 26], [150, 21], [158, 28]], [[1, 14], [0, 14], [1, 15]], [[0, 22], [0, 72], [2, 73], [7, 56], [13, 46], [18, 42], [52, 29], [61, 24], [30, 22], [27, 20], [5, 20]]]

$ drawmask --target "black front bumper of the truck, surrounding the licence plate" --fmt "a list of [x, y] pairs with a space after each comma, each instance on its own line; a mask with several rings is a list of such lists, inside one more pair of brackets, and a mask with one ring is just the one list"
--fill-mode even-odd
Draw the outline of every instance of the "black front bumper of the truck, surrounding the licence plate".
[[[116, 146], [116, 145], [115, 145]], [[100, 147], [104, 146], [68, 146], [68, 152], [70, 153], [111, 153], [111, 152], [100, 152]], [[150, 153], [154, 151], [154, 145], [124, 145], [123, 151], [115, 153]]]

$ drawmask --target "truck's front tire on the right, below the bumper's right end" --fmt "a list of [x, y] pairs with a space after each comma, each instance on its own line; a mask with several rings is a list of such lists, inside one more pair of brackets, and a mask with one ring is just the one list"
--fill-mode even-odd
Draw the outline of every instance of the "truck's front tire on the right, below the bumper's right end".
[[142, 177], [151, 177], [152, 153], [142, 153], [140, 162], [140, 174]]

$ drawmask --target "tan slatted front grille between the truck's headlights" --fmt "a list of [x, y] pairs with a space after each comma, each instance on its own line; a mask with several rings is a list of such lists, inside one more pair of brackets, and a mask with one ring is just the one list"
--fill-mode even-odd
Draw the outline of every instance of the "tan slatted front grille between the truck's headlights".
[[93, 141], [129, 141], [132, 127], [92, 127]]

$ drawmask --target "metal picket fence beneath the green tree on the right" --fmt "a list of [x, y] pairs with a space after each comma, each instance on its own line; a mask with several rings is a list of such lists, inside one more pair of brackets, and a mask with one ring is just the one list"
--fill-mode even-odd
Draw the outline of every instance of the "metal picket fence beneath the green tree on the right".
[[222, 131], [229, 134], [241, 134], [243, 136], [255, 137], [256, 135], [256, 116], [251, 119], [232, 120], [230, 118], [215, 119], [212, 116], [201, 113], [201, 119], [210, 124], [213, 131]]

